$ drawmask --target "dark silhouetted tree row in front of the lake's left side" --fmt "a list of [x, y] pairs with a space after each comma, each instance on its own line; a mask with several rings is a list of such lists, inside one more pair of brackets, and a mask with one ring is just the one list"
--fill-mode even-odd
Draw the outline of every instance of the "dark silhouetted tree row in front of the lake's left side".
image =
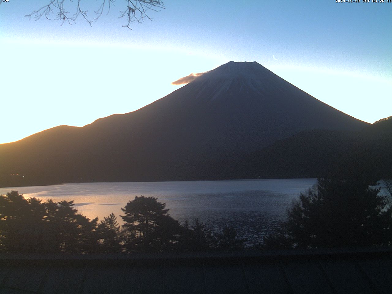
[[0, 195], [0, 250], [3, 252], [121, 253], [242, 250], [245, 239], [232, 227], [213, 232], [195, 220], [172, 218], [154, 197], [135, 196], [100, 222], [79, 214], [73, 201], [25, 199], [17, 191]]

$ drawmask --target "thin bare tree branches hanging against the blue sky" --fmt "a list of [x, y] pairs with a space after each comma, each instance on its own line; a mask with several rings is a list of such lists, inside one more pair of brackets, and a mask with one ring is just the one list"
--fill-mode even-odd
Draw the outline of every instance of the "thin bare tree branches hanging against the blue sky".
[[[75, 24], [76, 19], [79, 16], [82, 16], [85, 21], [91, 25], [93, 20], [97, 21], [106, 9], [106, 15], [108, 15], [112, 5], [116, 6], [114, 4], [115, 1], [116, 0], [100, 0], [100, 6], [98, 9], [94, 10], [96, 17], [92, 20], [87, 14], [88, 10], [82, 6], [83, 0], [49, 0], [47, 5], [42, 6], [25, 16], [29, 19], [33, 16], [34, 20], [39, 20], [42, 16], [51, 20], [51, 17], [54, 16], [53, 20], [59, 20], [61, 25], [63, 25], [64, 22], [68, 22], [68, 24]], [[87, 3], [87, 1], [84, 1], [83, 3]], [[127, 27], [129, 29], [131, 29], [132, 22], [136, 21], [138, 23], [142, 23], [145, 19], [152, 20], [152, 17], [150, 17], [147, 12], [158, 12], [160, 9], [165, 9], [161, 0], [122, 0], [121, 3], [123, 3], [125, 9], [120, 10], [119, 18], [124, 17], [127, 19], [127, 24], [123, 25], [123, 27]], [[70, 15], [68, 9], [71, 9], [72, 7], [76, 8], [76, 12]]]

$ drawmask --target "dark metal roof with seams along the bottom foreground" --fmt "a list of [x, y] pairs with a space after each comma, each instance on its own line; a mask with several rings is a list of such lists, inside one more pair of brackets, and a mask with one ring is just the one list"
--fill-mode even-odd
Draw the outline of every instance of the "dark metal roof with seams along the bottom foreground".
[[0, 256], [0, 294], [392, 293], [392, 249]]

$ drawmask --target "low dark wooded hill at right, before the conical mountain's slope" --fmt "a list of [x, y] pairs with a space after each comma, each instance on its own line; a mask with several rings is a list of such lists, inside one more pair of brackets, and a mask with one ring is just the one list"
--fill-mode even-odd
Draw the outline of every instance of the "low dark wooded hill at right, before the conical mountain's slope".
[[392, 178], [392, 120], [360, 131], [307, 130], [252, 152], [237, 162], [245, 178]]

